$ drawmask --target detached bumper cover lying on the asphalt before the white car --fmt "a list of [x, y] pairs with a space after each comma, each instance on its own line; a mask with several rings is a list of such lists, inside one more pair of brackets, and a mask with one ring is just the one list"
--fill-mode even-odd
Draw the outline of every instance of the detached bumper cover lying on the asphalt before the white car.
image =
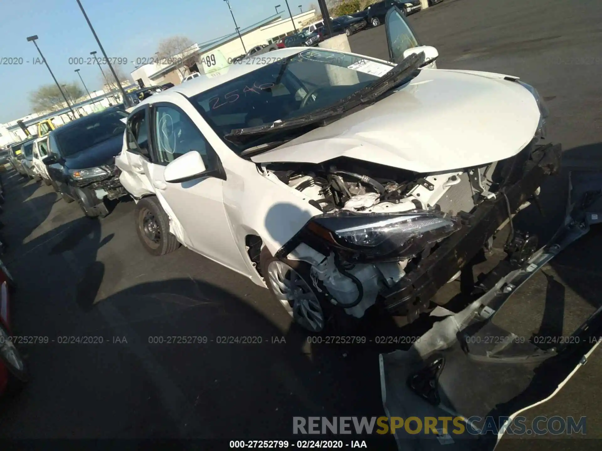
[[[600, 343], [602, 307], [548, 349], [492, 322], [504, 302], [542, 266], [586, 235], [590, 225], [602, 223], [600, 173], [571, 173], [569, 180], [568, 214], [550, 244], [459, 313], [433, 310], [433, 319], [445, 318], [435, 321], [408, 351], [380, 355], [387, 416], [450, 418], [447, 431], [441, 422], [430, 434], [426, 428], [417, 434], [397, 429], [399, 449], [494, 449], [504, 433], [521, 430], [515, 424], [521, 412], [554, 396]], [[452, 426], [451, 418], [458, 424]], [[457, 432], [459, 423], [465, 432]]]

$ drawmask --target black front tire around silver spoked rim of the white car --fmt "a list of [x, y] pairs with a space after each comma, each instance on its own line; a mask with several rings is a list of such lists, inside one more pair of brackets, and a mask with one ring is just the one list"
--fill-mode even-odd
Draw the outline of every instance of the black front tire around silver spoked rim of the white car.
[[[293, 321], [295, 321], [296, 324], [299, 325], [299, 327], [302, 327], [306, 331], [314, 334], [346, 334], [351, 333], [358, 327], [359, 322], [361, 322], [360, 319], [350, 316], [349, 314], [345, 313], [343, 308], [337, 307], [337, 305], [334, 305], [332, 304], [332, 302], [330, 302], [330, 298], [327, 294], [328, 292], [326, 290], [326, 287], [324, 287], [320, 280], [311, 277], [311, 265], [309, 265], [309, 263], [300, 262], [298, 260], [278, 259], [272, 256], [270, 251], [268, 251], [268, 249], [264, 247], [261, 250], [261, 253], [259, 254], [259, 268], [261, 269], [261, 274], [264, 278], [265, 284], [268, 287], [268, 290], [270, 290], [273, 299], [275, 299], [275, 301], [278, 302], [279, 305], [284, 304], [282, 304], [282, 301], [278, 299], [278, 296], [276, 296], [275, 289], [268, 274], [268, 266], [270, 265], [270, 263], [275, 261], [283, 262], [286, 265], [290, 266], [290, 268], [294, 269], [294, 271], [300, 275], [303, 281], [305, 281], [309, 289], [311, 289], [312, 292], [314, 292], [316, 298], [318, 299], [318, 302], [320, 303], [321, 311], [324, 317], [323, 328], [321, 328], [321, 330], [312, 330], [311, 328], [306, 327], [306, 325], [304, 325], [297, 318], [295, 318], [295, 316], [293, 316]], [[290, 305], [290, 307], [292, 310], [294, 310], [294, 305]], [[287, 308], [287, 310], [289, 309]]]

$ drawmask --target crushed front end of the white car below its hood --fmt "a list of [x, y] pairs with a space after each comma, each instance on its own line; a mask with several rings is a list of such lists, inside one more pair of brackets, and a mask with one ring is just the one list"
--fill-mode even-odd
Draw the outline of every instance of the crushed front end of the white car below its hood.
[[[361, 318], [379, 303], [413, 321], [433, 295], [491, 244], [514, 215], [538, 201], [545, 177], [560, 167], [560, 144], [533, 140], [501, 161], [418, 174], [350, 158], [312, 165], [271, 164], [307, 196], [314, 216], [276, 257], [311, 264], [330, 304]], [[536, 236], [514, 228], [503, 277], [536, 250]]]

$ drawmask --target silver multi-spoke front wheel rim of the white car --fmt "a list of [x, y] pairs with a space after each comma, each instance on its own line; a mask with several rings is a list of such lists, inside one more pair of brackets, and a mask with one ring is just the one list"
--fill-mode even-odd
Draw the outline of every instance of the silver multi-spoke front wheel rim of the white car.
[[288, 313], [303, 328], [320, 332], [324, 328], [324, 313], [314, 290], [297, 271], [279, 260], [267, 267], [272, 292]]

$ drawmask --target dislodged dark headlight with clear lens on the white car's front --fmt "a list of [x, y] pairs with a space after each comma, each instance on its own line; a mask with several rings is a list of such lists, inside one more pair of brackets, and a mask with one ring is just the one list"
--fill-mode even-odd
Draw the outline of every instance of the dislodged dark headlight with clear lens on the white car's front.
[[315, 216], [308, 229], [335, 247], [370, 257], [412, 257], [461, 227], [457, 218], [440, 212], [354, 213]]

